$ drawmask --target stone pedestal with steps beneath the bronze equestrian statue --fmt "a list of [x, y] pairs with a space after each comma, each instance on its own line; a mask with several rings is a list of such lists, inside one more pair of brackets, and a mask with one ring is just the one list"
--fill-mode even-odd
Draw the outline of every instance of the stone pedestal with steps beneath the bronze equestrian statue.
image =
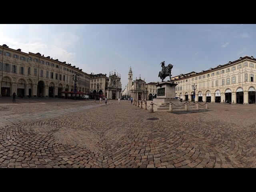
[[156, 104], [153, 106], [155, 111], [166, 111], [169, 110], [169, 103], [180, 102], [179, 99], [175, 98], [175, 87], [178, 84], [172, 82], [161, 82], [156, 85], [157, 96], [153, 99], [153, 103]]

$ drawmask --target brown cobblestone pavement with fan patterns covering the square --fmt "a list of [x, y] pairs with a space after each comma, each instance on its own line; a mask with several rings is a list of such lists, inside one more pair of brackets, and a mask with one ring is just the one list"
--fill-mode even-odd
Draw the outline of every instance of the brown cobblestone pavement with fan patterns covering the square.
[[0, 103], [2, 168], [256, 167], [254, 104], [172, 114], [123, 100], [34, 101]]

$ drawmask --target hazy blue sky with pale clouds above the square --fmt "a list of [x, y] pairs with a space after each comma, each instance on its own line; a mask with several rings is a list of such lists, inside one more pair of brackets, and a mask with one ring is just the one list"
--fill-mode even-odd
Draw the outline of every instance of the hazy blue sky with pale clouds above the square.
[[[50, 56], [88, 74], [116, 70], [122, 89], [133, 80], [160, 82], [160, 63], [172, 76], [201, 72], [254, 56], [256, 24], [0, 24], [0, 44]], [[170, 80], [166, 77], [164, 80]]]

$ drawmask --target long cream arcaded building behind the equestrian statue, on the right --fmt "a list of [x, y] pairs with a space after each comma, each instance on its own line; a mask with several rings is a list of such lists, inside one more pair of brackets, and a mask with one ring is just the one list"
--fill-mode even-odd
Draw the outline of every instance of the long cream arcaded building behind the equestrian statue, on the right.
[[[256, 59], [253, 56], [219, 65], [199, 73], [191, 72], [171, 78], [177, 83], [176, 96], [198, 102], [256, 102]], [[193, 98], [192, 85], [196, 85]]]

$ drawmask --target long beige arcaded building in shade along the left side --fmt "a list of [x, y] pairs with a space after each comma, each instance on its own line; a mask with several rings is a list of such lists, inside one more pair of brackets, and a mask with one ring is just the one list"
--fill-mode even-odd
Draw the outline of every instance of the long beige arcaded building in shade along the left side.
[[[78, 75], [76, 90], [90, 93], [90, 76], [82, 69], [45, 57], [40, 53], [25, 53], [0, 46], [0, 95], [64, 96], [62, 91], [74, 90], [73, 75]], [[70, 94], [68, 94], [70, 96]]]

